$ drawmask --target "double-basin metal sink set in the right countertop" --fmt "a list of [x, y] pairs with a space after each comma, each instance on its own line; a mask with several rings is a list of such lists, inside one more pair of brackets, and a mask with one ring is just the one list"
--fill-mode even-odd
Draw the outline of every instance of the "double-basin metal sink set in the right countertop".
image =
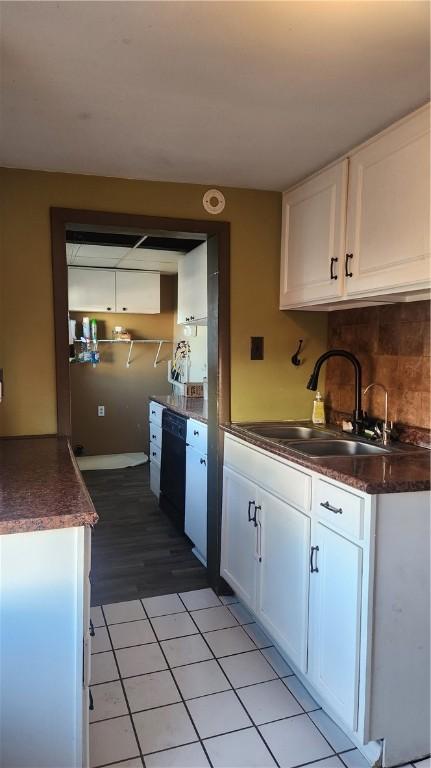
[[383, 448], [359, 438], [346, 438], [335, 431], [313, 426], [286, 422], [248, 423], [238, 426], [258, 437], [285, 445], [291, 451], [315, 459], [333, 456], [378, 456], [392, 453], [390, 448]]

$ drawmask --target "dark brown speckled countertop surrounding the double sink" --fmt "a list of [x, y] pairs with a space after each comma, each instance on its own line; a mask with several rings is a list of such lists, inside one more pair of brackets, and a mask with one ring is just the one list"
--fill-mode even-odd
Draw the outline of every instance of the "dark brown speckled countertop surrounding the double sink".
[[396, 453], [312, 459], [289, 450], [287, 444], [271, 442], [267, 438], [253, 435], [240, 424], [225, 424], [221, 428], [251, 445], [282, 456], [293, 464], [311, 469], [365, 493], [405, 493], [429, 491], [431, 488], [431, 453], [424, 448], [398, 443]]

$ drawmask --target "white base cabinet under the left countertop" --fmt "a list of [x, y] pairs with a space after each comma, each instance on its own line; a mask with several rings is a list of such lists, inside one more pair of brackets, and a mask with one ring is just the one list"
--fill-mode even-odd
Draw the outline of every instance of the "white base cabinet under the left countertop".
[[1, 765], [87, 768], [90, 530], [0, 537]]

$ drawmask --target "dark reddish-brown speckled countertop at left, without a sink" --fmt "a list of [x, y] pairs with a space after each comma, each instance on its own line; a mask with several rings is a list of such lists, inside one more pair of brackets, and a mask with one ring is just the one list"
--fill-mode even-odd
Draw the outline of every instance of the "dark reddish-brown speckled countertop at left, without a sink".
[[0, 439], [0, 534], [94, 525], [97, 520], [66, 438]]

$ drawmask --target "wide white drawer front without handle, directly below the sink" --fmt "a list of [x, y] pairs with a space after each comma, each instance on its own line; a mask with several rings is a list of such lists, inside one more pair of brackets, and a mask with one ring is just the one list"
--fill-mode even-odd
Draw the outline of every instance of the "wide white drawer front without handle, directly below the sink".
[[259, 453], [246, 443], [225, 438], [224, 463], [302, 512], [311, 507], [311, 477]]

